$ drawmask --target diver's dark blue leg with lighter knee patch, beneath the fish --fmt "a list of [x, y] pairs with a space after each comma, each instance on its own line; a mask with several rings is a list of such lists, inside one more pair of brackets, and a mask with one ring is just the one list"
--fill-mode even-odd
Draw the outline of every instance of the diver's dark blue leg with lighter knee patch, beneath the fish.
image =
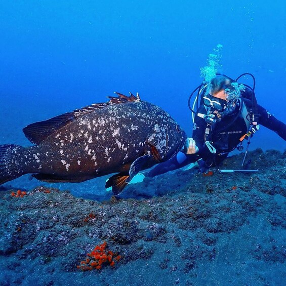
[[176, 156], [173, 156], [170, 160], [158, 164], [150, 172], [144, 174], [145, 177], [155, 177], [169, 171], [173, 171], [184, 166], [191, 164], [199, 159], [196, 154], [186, 155], [183, 152], [178, 152]]

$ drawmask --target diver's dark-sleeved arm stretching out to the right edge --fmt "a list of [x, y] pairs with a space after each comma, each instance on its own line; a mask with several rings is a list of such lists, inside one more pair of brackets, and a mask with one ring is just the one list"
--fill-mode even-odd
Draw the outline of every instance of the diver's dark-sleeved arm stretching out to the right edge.
[[260, 113], [259, 124], [276, 132], [282, 139], [286, 141], [286, 124], [278, 120], [260, 105], [258, 105], [258, 112]]

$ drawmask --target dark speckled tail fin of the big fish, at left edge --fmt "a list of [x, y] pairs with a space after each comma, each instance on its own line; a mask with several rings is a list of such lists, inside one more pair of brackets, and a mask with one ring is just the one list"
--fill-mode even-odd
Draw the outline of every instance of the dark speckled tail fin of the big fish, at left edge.
[[17, 154], [24, 147], [18, 145], [0, 145], [0, 185], [14, 180], [22, 175], [24, 171], [19, 169]]

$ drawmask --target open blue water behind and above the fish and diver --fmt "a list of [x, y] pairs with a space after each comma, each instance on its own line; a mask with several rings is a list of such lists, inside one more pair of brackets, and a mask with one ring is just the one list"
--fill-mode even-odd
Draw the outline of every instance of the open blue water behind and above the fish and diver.
[[[282, 1], [2, 1], [0, 143], [27, 145], [27, 124], [114, 91], [139, 92], [191, 135], [187, 99], [217, 44], [222, 71], [252, 72], [258, 102], [284, 119], [285, 12]], [[286, 144], [262, 128], [257, 146]]]

